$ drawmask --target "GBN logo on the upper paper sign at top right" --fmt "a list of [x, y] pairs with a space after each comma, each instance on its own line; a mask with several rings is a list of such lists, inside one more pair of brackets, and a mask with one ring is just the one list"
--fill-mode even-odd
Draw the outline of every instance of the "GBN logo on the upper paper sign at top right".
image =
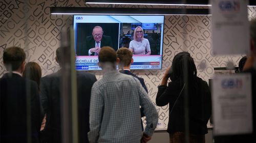
[[220, 1], [219, 8], [222, 13], [234, 13], [240, 11], [240, 1]]

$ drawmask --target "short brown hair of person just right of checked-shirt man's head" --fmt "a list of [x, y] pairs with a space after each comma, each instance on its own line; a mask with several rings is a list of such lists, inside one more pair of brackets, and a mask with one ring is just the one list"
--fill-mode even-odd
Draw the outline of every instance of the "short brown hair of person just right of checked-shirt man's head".
[[116, 53], [117, 53], [117, 58], [120, 59], [119, 66], [127, 67], [131, 64], [132, 58], [133, 58], [133, 53], [131, 50], [129, 50], [125, 47], [122, 47], [122, 48], [118, 49], [116, 51]]

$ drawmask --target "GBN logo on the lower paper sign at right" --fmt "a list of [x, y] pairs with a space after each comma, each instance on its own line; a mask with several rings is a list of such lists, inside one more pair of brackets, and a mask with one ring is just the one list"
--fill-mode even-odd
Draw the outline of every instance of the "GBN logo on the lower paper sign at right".
[[221, 87], [222, 89], [242, 89], [243, 80], [240, 78], [223, 79]]

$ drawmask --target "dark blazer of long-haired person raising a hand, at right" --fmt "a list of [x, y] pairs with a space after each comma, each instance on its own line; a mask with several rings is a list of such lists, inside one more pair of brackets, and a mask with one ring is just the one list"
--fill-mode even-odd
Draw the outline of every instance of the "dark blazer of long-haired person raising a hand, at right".
[[[187, 84], [186, 84], [187, 85]], [[193, 134], [206, 134], [207, 122], [211, 115], [211, 94], [206, 81], [197, 77], [195, 88], [188, 87], [189, 100], [189, 130]], [[168, 133], [184, 131], [184, 90], [181, 79], [169, 82], [168, 87], [160, 85], [156, 97], [158, 106], [169, 104]], [[184, 88], [186, 89], [186, 87]], [[180, 97], [178, 98], [179, 94]], [[178, 100], [177, 100], [178, 98]], [[177, 100], [177, 102], [176, 102]], [[176, 104], [175, 104], [176, 102]], [[174, 105], [175, 104], [175, 105]]]

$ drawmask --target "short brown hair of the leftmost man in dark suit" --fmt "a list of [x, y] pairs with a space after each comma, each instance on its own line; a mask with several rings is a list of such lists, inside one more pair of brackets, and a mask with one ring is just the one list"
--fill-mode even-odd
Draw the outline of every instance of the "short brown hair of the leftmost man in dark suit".
[[4, 50], [3, 61], [8, 71], [18, 70], [26, 59], [26, 53], [20, 47], [9, 47]]

